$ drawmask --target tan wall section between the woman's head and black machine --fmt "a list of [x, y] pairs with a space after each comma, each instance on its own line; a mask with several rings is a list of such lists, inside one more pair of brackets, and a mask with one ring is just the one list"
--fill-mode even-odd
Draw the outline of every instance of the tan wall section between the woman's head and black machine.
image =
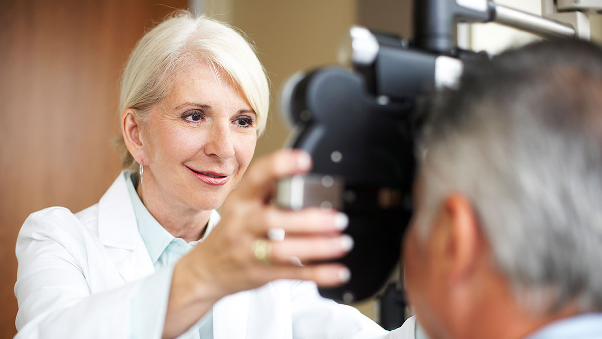
[[280, 91], [298, 71], [336, 65], [340, 41], [356, 22], [356, 0], [231, 0], [232, 24], [255, 42], [272, 81], [270, 118], [255, 158], [281, 148], [290, 128], [281, 116]]

